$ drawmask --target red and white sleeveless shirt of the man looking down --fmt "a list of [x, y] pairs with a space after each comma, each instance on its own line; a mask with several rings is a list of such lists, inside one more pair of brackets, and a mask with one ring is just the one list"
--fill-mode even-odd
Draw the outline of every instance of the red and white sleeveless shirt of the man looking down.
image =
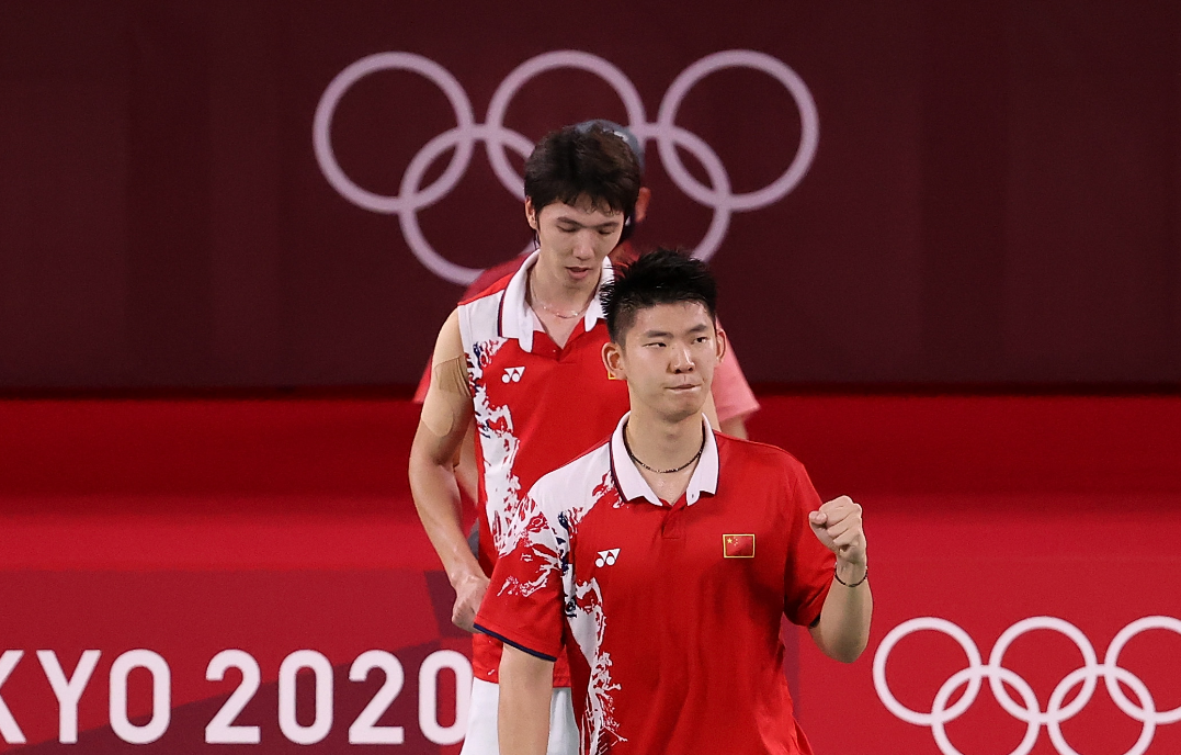
[[[526, 492], [546, 473], [600, 443], [627, 410], [627, 384], [608, 380], [602, 364], [607, 324], [598, 297], [559, 347], [526, 304], [534, 253], [511, 278], [459, 304], [479, 475], [479, 562], [492, 573], [524, 529]], [[612, 279], [603, 260], [600, 285]], [[496, 682], [501, 645], [472, 639], [477, 679]], [[569, 685], [566, 664], [555, 686]]]

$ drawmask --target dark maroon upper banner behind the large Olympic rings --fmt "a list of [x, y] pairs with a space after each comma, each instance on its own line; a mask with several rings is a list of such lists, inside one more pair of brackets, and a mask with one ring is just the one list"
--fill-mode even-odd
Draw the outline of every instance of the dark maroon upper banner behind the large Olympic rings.
[[0, 6], [0, 388], [412, 384], [629, 125], [756, 383], [1181, 382], [1175, 4]]

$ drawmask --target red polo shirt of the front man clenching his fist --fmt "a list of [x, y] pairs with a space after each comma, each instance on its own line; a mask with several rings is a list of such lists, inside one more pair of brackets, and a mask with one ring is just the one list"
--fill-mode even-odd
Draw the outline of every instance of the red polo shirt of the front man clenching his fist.
[[477, 627], [541, 658], [566, 650], [583, 753], [811, 753], [779, 640], [784, 613], [820, 616], [835, 566], [808, 525], [808, 475], [707, 431], [670, 506], [628, 458], [626, 419], [531, 489]]

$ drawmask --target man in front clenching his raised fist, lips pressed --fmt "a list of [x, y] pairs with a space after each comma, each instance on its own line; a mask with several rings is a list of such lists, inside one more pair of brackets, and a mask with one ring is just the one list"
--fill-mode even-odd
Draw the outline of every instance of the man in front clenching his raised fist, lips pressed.
[[785, 451], [715, 434], [702, 409], [725, 337], [704, 265], [640, 258], [605, 291], [603, 362], [631, 411], [543, 476], [476, 626], [505, 643], [501, 750], [546, 748], [568, 656], [581, 751], [811, 753], [782, 673], [783, 614], [828, 656], [864, 650], [861, 507], [821, 505]]

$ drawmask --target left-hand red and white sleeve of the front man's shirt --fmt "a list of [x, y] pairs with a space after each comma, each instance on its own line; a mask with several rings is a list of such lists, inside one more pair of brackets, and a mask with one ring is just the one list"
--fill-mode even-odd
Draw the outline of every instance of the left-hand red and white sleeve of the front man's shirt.
[[476, 614], [476, 629], [544, 660], [562, 651], [566, 623], [562, 565], [568, 545], [540, 506], [508, 555], [496, 561], [491, 582]]

